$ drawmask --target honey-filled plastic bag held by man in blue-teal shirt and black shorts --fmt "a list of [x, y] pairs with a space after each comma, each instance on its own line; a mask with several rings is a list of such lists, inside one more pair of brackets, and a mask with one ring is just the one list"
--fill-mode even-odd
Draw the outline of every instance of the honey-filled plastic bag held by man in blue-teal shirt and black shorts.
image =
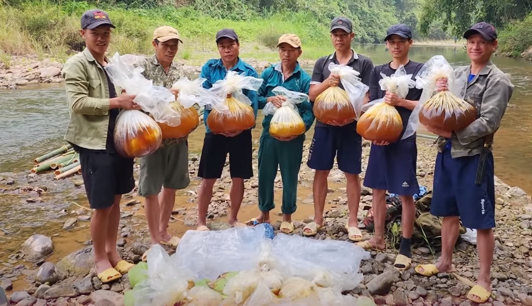
[[225, 100], [207, 116], [207, 126], [215, 134], [234, 133], [253, 128], [255, 113], [251, 100], [242, 93], [243, 89], [259, 90], [262, 79], [245, 77], [244, 73], [228, 71], [226, 78], [215, 82], [211, 91]]

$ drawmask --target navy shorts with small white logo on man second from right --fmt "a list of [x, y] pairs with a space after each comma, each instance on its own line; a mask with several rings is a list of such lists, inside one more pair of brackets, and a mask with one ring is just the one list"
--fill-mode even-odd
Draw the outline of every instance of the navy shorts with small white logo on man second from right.
[[371, 145], [364, 186], [388, 190], [400, 196], [419, 193], [416, 160], [418, 148], [415, 141], [402, 140], [388, 146]]

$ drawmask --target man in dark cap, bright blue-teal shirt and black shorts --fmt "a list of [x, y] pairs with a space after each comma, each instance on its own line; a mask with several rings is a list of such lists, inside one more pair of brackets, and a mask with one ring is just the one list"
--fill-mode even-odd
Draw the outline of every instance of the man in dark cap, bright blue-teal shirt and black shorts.
[[[244, 73], [246, 77], [259, 78], [252, 66], [240, 60], [240, 44], [234, 30], [222, 29], [216, 34], [216, 44], [220, 53], [219, 60], [209, 60], [203, 65], [200, 77], [206, 79], [203, 87], [209, 89], [212, 85], [225, 79], [227, 71]], [[253, 90], [243, 90], [243, 94], [251, 100], [251, 106], [257, 116], [257, 93]], [[214, 134], [207, 126], [207, 116], [211, 110], [205, 109], [203, 118], [205, 123], [205, 139], [200, 158], [198, 176], [203, 179], [198, 193], [198, 227], [197, 230], [209, 230], [206, 227], [207, 209], [212, 198], [212, 188], [217, 179], [222, 176], [223, 167], [229, 154], [229, 172], [231, 174], [231, 191], [229, 224], [243, 226], [238, 222], [237, 215], [244, 197], [244, 180], [253, 176], [251, 129], [235, 133]]]

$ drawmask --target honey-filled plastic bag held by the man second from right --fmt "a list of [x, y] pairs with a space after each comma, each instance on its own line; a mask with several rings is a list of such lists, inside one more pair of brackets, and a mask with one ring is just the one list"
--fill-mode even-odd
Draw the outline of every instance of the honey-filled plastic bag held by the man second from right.
[[[403, 65], [389, 77], [380, 73], [381, 90], [393, 92], [400, 99], [408, 95], [410, 88], [415, 86], [412, 74], [406, 74]], [[403, 121], [395, 106], [389, 105], [383, 99], [377, 99], [362, 107], [363, 114], [356, 123], [356, 132], [370, 141], [395, 142], [403, 131]]]

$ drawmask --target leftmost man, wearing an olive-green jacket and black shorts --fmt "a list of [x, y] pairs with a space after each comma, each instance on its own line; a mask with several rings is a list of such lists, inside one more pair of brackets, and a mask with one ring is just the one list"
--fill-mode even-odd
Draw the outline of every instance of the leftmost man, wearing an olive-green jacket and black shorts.
[[117, 252], [122, 194], [135, 188], [133, 159], [118, 155], [114, 147], [114, 125], [119, 109], [140, 109], [135, 96], [117, 92], [107, 75], [105, 52], [114, 25], [101, 10], [90, 10], [81, 17], [83, 52], [72, 56], [63, 67], [70, 122], [65, 140], [79, 152], [85, 190], [90, 208], [94, 262], [103, 283], [118, 279], [132, 264]]

